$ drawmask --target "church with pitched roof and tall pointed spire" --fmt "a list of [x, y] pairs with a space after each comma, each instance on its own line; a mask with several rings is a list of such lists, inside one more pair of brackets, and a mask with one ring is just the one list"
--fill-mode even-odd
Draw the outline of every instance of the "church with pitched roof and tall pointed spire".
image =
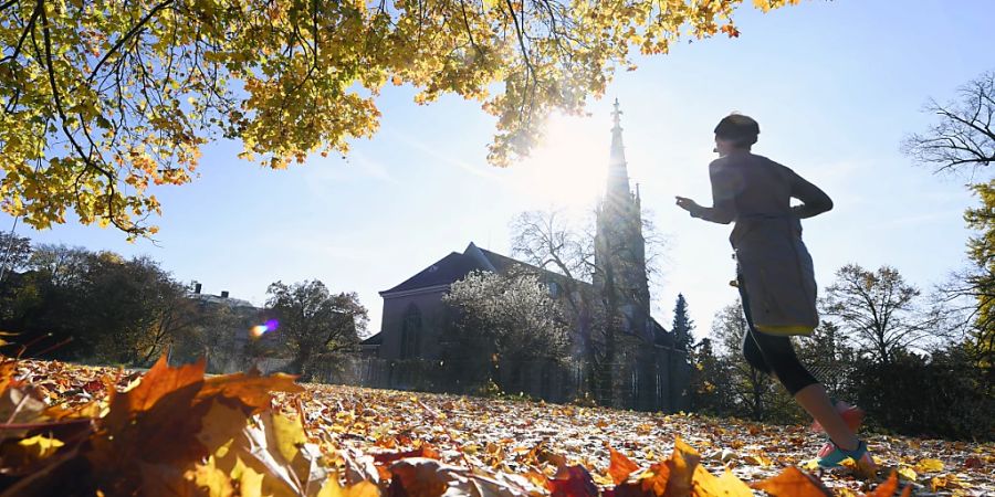
[[[584, 287], [605, 305], [618, 309], [617, 349], [614, 362], [618, 372], [612, 380], [617, 406], [653, 411], [687, 408], [690, 378], [688, 351], [678, 350], [671, 332], [650, 313], [650, 292], [646, 267], [646, 241], [638, 186], [633, 191], [622, 144], [621, 112], [615, 102], [611, 149], [607, 186], [597, 209], [595, 268], [590, 283], [568, 281], [558, 273], [532, 266], [470, 243], [462, 252], [452, 252], [429, 264], [418, 274], [392, 288], [380, 292], [384, 314], [380, 332], [362, 343], [364, 353], [390, 364], [389, 388], [411, 387], [398, 372], [401, 364], [439, 363], [446, 331], [453, 326], [453, 313], [442, 297], [450, 285], [471, 272], [506, 274], [527, 271], [547, 285], [551, 296], [559, 298], [564, 288]], [[578, 327], [584, 319], [577, 319]], [[579, 332], [579, 330], [578, 330]], [[573, 358], [583, 362], [583, 357]], [[583, 368], [578, 366], [577, 368]], [[404, 368], [401, 368], [404, 369]], [[423, 368], [422, 368], [423, 369]], [[413, 373], [411, 373], [413, 374]], [[557, 390], [584, 389], [579, 369], [557, 380], [543, 368], [535, 383], [523, 389], [551, 401], [568, 400]], [[563, 374], [562, 374], [563, 376]], [[557, 377], [558, 378], [558, 377]]]

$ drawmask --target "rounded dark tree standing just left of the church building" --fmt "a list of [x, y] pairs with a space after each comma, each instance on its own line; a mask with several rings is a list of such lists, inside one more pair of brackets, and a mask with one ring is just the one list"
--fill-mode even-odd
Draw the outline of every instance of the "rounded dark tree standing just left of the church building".
[[305, 380], [323, 361], [355, 350], [369, 321], [356, 293], [332, 294], [317, 279], [276, 282], [266, 295], [266, 306], [279, 319], [277, 337], [293, 358], [291, 368]]

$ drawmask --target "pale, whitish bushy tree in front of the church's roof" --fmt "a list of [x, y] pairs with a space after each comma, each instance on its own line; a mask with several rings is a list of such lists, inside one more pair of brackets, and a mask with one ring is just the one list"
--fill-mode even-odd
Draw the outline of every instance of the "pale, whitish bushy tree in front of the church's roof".
[[443, 302], [458, 315], [455, 334], [447, 340], [457, 343], [462, 360], [504, 362], [517, 376], [526, 362], [559, 361], [567, 353], [570, 321], [535, 274], [473, 272], [453, 283]]

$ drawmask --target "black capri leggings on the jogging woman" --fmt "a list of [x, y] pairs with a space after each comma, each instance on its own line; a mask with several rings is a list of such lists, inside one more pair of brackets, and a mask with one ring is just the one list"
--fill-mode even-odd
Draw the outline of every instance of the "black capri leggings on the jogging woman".
[[740, 298], [743, 300], [743, 314], [746, 315], [746, 334], [743, 335], [743, 357], [750, 366], [771, 374], [794, 396], [799, 390], [819, 381], [802, 366], [789, 337], [767, 335], [757, 331], [750, 315], [750, 296], [743, 276], [739, 277]]

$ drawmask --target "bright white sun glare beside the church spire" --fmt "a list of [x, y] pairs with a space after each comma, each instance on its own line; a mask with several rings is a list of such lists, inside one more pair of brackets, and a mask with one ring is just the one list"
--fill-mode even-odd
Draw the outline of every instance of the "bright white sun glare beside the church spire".
[[541, 204], [594, 208], [608, 173], [610, 124], [553, 115], [532, 156], [514, 167], [516, 186]]

